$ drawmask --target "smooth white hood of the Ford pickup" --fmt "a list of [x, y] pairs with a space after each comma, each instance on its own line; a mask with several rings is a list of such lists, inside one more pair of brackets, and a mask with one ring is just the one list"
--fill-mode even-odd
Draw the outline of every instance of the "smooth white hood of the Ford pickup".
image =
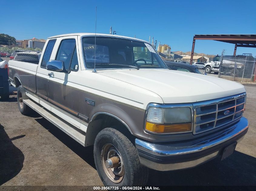
[[245, 92], [221, 78], [167, 69], [111, 70], [98, 73], [158, 94], [164, 103], [191, 103]]

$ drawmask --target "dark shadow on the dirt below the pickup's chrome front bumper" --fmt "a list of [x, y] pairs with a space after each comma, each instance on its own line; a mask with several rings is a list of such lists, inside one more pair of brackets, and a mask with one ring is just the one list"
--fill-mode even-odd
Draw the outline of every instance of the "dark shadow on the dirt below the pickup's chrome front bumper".
[[180, 186], [256, 186], [256, 158], [234, 151], [220, 161], [214, 159], [198, 167], [159, 172], [151, 170], [148, 185]]

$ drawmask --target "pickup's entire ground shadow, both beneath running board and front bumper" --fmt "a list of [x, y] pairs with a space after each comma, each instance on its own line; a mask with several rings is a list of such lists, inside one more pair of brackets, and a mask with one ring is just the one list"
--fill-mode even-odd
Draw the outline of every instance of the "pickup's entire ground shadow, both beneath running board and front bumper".
[[[95, 168], [93, 147], [83, 147], [44, 118], [35, 119], [52, 135]], [[95, 168], [96, 169], [96, 168]], [[198, 167], [161, 172], [150, 170], [148, 186], [248, 186], [256, 185], [256, 158], [235, 151], [229, 158], [214, 159]]]

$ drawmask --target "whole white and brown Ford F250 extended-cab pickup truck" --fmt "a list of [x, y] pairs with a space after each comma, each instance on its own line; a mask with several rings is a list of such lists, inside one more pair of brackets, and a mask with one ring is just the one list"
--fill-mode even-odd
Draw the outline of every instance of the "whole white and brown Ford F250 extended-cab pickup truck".
[[135, 38], [50, 37], [39, 64], [9, 61], [9, 79], [22, 114], [35, 110], [94, 146], [105, 186], [145, 185], [148, 168], [223, 160], [248, 131], [243, 85], [169, 70], [151, 44]]

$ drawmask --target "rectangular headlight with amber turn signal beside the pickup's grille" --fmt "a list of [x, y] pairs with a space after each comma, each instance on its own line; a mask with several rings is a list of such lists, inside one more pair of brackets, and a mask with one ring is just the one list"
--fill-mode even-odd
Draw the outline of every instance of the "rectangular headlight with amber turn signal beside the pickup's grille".
[[188, 132], [192, 128], [191, 118], [190, 107], [150, 107], [145, 129], [154, 133]]

